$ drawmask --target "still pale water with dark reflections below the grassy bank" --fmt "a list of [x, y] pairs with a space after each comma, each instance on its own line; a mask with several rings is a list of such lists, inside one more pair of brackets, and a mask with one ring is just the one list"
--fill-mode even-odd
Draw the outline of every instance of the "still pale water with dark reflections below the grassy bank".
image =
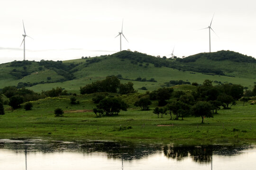
[[256, 145], [0, 139], [0, 170], [256, 170]]

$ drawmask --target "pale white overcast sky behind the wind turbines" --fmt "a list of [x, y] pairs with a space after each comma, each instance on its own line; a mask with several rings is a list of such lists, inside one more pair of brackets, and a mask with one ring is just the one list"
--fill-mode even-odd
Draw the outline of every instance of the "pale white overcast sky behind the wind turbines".
[[1, 0], [0, 63], [78, 59], [130, 49], [161, 57], [230, 50], [256, 57], [255, 0]]

